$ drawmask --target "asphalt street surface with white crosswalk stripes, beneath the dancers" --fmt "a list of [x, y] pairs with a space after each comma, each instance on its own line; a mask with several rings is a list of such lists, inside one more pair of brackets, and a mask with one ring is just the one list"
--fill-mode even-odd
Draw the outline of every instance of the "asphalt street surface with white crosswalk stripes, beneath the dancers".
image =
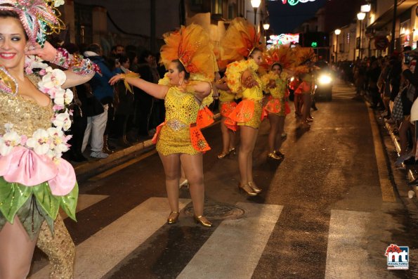
[[[288, 115], [282, 162], [266, 157], [263, 122], [254, 152], [263, 188], [257, 197], [239, 193], [236, 155], [216, 158], [219, 124], [204, 130], [212, 148], [204, 155], [212, 228], [192, 221], [187, 188], [180, 221], [166, 224], [170, 209], [154, 150], [80, 183], [78, 222], [65, 219], [77, 245], [74, 278], [418, 278], [418, 220], [388, 181], [376, 124], [353, 96], [350, 86], [334, 86], [309, 131]], [[391, 244], [409, 247], [408, 270], [387, 269]], [[48, 278], [39, 251], [31, 274]]]

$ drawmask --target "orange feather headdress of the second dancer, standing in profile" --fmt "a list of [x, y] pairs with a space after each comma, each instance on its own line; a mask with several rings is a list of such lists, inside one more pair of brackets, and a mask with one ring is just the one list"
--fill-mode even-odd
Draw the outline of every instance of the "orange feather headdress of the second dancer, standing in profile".
[[235, 18], [230, 22], [221, 40], [221, 60], [242, 60], [247, 58], [254, 48], [263, 51], [260, 34], [256, 32], [254, 25], [244, 18]]

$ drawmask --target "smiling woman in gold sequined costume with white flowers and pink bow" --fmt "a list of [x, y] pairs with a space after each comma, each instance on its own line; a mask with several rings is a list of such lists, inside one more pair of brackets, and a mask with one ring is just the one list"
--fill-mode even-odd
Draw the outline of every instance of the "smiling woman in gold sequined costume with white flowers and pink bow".
[[74, 169], [61, 158], [71, 124], [68, 88], [88, 82], [95, 65], [46, 41], [64, 28], [57, 6], [0, 0], [0, 278], [26, 278], [37, 240], [60, 265], [55, 276], [72, 276], [74, 243], [58, 214], [61, 208], [75, 220], [78, 196]]

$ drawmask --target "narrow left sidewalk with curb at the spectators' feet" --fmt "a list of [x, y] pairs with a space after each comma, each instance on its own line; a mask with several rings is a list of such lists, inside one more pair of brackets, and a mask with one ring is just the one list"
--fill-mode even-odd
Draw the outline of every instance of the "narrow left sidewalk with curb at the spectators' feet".
[[[214, 120], [216, 121], [219, 119], [221, 115], [219, 113], [214, 115]], [[118, 166], [119, 164], [123, 164], [133, 158], [141, 156], [143, 153], [146, 153], [155, 148], [155, 144], [152, 143], [151, 139], [145, 141], [138, 141], [134, 143], [132, 146], [128, 148], [121, 148], [117, 147], [115, 152], [110, 154], [109, 157], [105, 159], [94, 159], [85, 157], [88, 159], [86, 162], [72, 162], [72, 166], [74, 167], [77, 181], [85, 181], [86, 179], [91, 178], [92, 176], [96, 176], [96, 174], [100, 174], [103, 171], [107, 171], [108, 169], [112, 169], [113, 167]]]

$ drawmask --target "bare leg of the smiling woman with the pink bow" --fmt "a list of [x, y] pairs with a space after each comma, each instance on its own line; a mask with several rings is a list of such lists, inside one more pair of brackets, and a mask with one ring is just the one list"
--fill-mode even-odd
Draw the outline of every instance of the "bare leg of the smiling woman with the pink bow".
[[18, 216], [13, 225], [6, 222], [0, 231], [0, 278], [26, 278], [37, 243], [37, 236], [31, 240]]

